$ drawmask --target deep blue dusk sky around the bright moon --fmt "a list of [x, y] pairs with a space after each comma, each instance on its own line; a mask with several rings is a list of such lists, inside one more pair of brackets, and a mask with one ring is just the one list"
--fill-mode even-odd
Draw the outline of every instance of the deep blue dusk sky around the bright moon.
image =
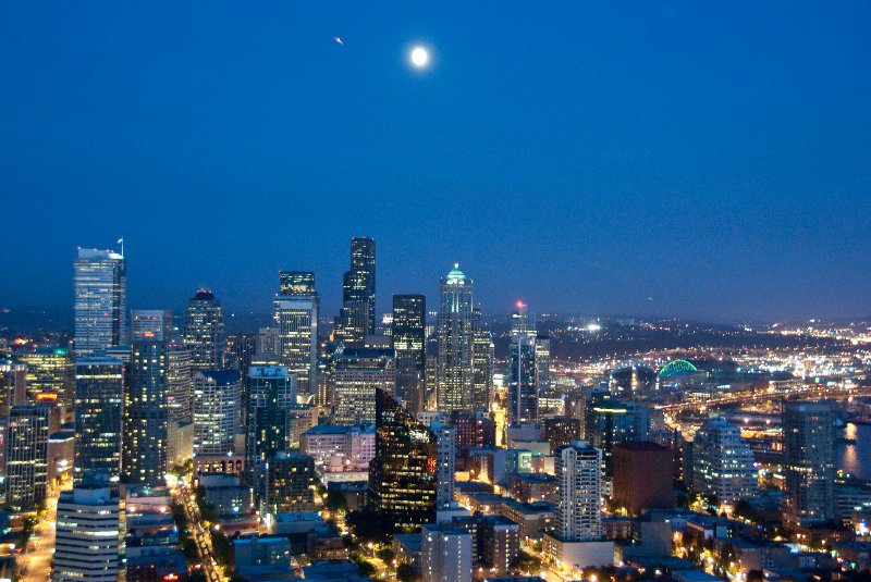
[[123, 235], [131, 307], [332, 312], [368, 235], [379, 311], [871, 313], [871, 3], [568, 4], [5, 3], [0, 302]]

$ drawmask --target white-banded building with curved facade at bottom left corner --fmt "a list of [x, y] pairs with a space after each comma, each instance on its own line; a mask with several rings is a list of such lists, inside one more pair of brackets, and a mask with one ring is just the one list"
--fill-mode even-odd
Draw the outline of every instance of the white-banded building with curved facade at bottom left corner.
[[121, 505], [105, 473], [61, 492], [53, 582], [115, 582], [123, 570]]

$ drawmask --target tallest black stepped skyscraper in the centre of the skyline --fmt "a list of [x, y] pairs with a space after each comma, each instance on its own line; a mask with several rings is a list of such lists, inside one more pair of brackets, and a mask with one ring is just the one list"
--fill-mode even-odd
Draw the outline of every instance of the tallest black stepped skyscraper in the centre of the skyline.
[[351, 239], [351, 269], [342, 278], [342, 309], [335, 320], [336, 340], [345, 347], [364, 347], [375, 333], [375, 240]]

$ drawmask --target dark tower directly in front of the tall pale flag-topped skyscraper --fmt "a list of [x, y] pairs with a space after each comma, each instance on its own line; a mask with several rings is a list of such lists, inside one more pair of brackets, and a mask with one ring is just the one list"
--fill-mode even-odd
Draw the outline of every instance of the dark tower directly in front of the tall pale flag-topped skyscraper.
[[121, 475], [124, 362], [87, 357], [75, 362], [75, 469], [78, 483], [87, 471]]

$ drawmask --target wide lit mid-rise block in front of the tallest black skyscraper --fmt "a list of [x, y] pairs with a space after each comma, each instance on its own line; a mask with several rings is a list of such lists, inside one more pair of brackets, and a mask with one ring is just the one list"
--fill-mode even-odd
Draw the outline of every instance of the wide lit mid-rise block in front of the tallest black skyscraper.
[[376, 392], [393, 394], [396, 366], [389, 349], [344, 349], [332, 356], [333, 423], [375, 422]]

